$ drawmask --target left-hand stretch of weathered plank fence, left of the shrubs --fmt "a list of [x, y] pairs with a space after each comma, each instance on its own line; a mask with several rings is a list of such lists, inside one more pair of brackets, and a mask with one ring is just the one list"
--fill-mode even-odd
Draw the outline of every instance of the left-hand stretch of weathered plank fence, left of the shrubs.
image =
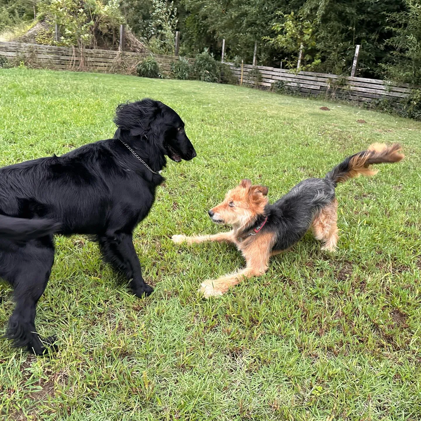
[[[55, 45], [0, 42], [0, 56], [11, 61], [25, 61], [33, 67], [90, 70], [96, 72], [135, 73], [136, 64], [147, 53], [127, 51], [91, 50]], [[155, 55], [161, 71], [169, 73], [173, 56]]]

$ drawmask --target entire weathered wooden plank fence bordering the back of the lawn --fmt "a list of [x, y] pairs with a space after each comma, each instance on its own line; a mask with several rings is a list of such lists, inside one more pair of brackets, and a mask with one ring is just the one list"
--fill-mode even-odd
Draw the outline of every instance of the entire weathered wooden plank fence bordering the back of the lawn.
[[[72, 47], [0, 42], [0, 56], [5, 56], [11, 61], [23, 60], [34, 67], [133, 74], [136, 64], [147, 54], [90, 49], [80, 51]], [[155, 59], [160, 64], [161, 72], [165, 75], [170, 72], [171, 61], [178, 58], [155, 55]], [[261, 89], [277, 87], [281, 91], [293, 91], [304, 96], [324, 95], [332, 99], [346, 99], [358, 103], [387, 99], [393, 107], [400, 108], [402, 107], [400, 101], [410, 93], [408, 84], [392, 85], [379, 79], [344, 77], [314, 72], [294, 73], [285, 69], [249, 64], [244, 64], [241, 68], [235, 67], [232, 63], [227, 64], [238, 78], [239, 83], [242, 78], [242, 83], [245, 85], [253, 85]], [[260, 81], [250, 76], [252, 69], [258, 69], [261, 73]]]

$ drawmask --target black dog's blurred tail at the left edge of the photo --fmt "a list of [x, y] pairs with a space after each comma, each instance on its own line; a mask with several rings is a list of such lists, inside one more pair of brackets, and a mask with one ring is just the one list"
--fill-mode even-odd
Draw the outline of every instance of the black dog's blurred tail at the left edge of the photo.
[[61, 224], [52, 219], [25, 219], [0, 215], [0, 238], [27, 241], [53, 234]]

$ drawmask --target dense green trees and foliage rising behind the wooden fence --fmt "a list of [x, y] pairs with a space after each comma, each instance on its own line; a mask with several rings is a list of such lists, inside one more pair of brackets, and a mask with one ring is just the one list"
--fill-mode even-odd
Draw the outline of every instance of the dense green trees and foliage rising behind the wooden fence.
[[[250, 63], [257, 42], [258, 64], [295, 68], [302, 45], [301, 69], [344, 75], [360, 44], [357, 76], [421, 84], [418, 0], [121, 0], [118, 13], [112, 0], [34, 1], [37, 10], [68, 27], [67, 44], [91, 37], [99, 25], [125, 19], [153, 53], [172, 54], [179, 30], [183, 56], [208, 48], [219, 57], [225, 39], [227, 60]], [[0, 0], [0, 11], [0, 29], [33, 15], [32, 4], [24, 0]], [[80, 19], [84, 14], [89, 19]], [[91, 15], [100, 16], [99, 22]]]

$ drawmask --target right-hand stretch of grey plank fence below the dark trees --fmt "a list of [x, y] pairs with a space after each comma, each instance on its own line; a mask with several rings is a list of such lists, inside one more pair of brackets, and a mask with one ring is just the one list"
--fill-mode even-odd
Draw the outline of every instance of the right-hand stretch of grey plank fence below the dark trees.
[[[325, 95], [331, 98], [346, 99], [359, 103], [389, 99], [394, 106], [399, 107], [401, 106], [400, 100], [410, 93], [408, 84], [391, 85], [380, 79], [346, 77], [315, 72], [293, 73], [285, 69], [251, 66], [249, 64], [244, 64], [243, 69], [241, 69], [241, 66], [235, 67], [232, 63], [227, 64], [229, 64], [232, 72], [238, 78], [239, 83], [242, 73], [243, 84], [254, 85], [263, 89], [273, 89], [277, 86], [280, 90], [295, 91], [304, 96]], [[261, 81], [256, 80], [255, 76], [250, 77], [249, 73], [252, 69], [258, 69], [261, 73]], [[256, 72], [254, 71], [253, 73]]]

